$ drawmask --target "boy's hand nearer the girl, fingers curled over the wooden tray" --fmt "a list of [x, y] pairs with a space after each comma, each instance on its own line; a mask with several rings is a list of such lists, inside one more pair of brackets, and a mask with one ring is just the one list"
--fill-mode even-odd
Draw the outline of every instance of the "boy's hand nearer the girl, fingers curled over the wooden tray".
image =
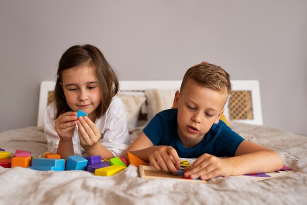
[[156, 170], [171, 172], [173, 175], [177, 175], [180, 170], [179, 156], [172, 146], [155, 146], [148, 159]]

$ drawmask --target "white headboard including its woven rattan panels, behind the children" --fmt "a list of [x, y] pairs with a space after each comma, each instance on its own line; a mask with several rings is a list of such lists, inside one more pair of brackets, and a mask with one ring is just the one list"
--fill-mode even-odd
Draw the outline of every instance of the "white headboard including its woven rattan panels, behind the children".
[[[231, 81], [232, 91], [225, 108], [225, 116], [230, 120], [262, 125], [262, 111], [260, 101], [260, 89], [258, 81]], [[181, 81], [122, 81], [121, 91], [133, 94], [143, 92], [146, 89], [176, 89]], [[44, 109], [53, 101], [53, 82], [42, 82], [40, 90], [40, 103], [38, 126], [42, 126]], [[45, 96], [45, 97], [43, 97]], [[41, 99], [45, 98], [45, 99]], [[145, 120], [146, 115], [141, 114], [140, 120]]]

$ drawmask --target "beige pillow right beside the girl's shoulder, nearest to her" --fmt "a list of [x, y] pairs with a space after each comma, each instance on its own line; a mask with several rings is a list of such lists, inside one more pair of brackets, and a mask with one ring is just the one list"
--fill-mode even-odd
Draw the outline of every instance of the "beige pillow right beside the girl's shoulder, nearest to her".
[[117, 93], [116, 96], [124, 103], [128, 127], [135, 127], [141, 107], [146, 101], [145, 96], [125, 95], [121, 93]]

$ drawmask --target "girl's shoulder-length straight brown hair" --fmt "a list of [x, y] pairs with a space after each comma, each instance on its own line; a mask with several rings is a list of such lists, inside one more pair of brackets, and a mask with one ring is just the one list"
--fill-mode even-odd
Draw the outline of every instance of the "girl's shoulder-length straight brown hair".
[[112, 97], [119, 90], [117, 76], [98, 48], [89, 44], [72, 46], [62, 55], [58, 65], [53, 99], [56, 108], [54, 119], [63, 113], [72, 111], [66, 102], [64, 91], [60, 85], [62, 71], [80, 66], [91, 66], [99, 84], [102, 102], [97, 108], [97, 118], [105, 114]]

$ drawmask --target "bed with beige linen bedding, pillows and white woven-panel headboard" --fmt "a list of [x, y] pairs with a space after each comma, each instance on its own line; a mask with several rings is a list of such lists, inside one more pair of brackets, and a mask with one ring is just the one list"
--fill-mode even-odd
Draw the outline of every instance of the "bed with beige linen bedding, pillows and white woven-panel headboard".
[[[233, 91], [225, 116], [230, 127], [254, 143], [276, 150], [294, 174], [263, 181], [242, 177], [216, 177], [206, 184], [161, 178], [140, 178], [129, 165], [114, 176], [94, 176], [86, 171], [34, 171], [0, 167], [0, 204], [307, 204], [307, 137], [262, 125], [258, 81], [231, 81]], [[53, 82], [42, 82], [37, 126], [0, 133], [0, 148], [47, 151], [42, 112], [52, 99]], [[180, 81], [121, 81], [118, 93], [127, 110], [131, 142], [160, 110], [172, 106]], [[13, 156], [13, 154], [11, 154]]]

